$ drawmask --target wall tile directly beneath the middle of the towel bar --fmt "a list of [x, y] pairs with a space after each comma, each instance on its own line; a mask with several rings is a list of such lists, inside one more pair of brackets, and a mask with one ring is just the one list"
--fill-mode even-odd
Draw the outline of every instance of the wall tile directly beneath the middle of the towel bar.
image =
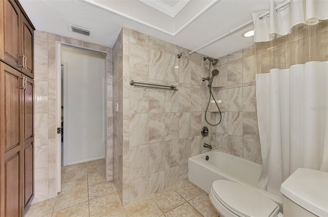
[[165, 112], [165, 93], [176, 91], [149, 89], [149, 113]]

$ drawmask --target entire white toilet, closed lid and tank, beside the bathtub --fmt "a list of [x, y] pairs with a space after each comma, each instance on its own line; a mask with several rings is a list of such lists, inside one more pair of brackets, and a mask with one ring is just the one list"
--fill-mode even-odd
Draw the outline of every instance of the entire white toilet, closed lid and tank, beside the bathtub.
[[280, 188], [283, 212], [255, 189], [227, 180], [213, 182], [209, 196], [222, 217], [328, 216], [328, 173], [298, 168]]

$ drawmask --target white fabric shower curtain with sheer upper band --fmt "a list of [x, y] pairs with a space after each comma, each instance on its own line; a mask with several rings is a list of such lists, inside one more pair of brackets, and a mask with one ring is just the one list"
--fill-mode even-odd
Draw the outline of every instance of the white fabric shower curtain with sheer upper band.
[[[304, 49], [294, 48], [293, 43], [300, 42], [296, 41], [299, 39], [295, 39], [295, 35], [281, 37], [290, 34], [291, 28], [301, 23], [315, 29], [313, 27], [321, 22], [320, 19], [328, 18], [328, 1], [291, 0], [288, 7], [276, 11], [274, 7], [281, 2], [271, 0], [269, 17], [259, 19], [262, 12], [253, 14], [254, 41], [270, 41], [268, 53], [272, 61], [269, 62], [269, 73], [256, 74], [263, 164], [259, 187], [276, 195], [281, 195], [281, 183], [299, 167], [328, 171], [328, 62], [327, 55], [321, 55], [322, 49], [328, 47], [320, 48], [318, 32], [306, 32], [304, 37], [308, 41], [300, 38], [306, 42], [302, 41], [302, 45], [308, 46]], [[297, 29], [301, 28], [298, 26]], [[314, 36], [319, 38], [318, 41]], [[283, 43], [281, 38], [285, 40]], [[316, 55], [314, 42], [318, 45]], [[263, 53], [267, 51], [263, 47], [262, 61]], [[277, 57], [281, 48], [286, 51], [283, 61]], [[290, 56], [287, 56], [288, 51]], [[300, 51], [309, 53], [297, 58]], [[281, 65], [282, 69], [279, 69]]]

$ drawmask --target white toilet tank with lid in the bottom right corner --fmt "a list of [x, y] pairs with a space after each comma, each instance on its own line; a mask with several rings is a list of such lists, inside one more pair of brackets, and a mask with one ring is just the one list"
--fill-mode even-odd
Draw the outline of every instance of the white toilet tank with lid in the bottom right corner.
[[328, 173], [298, 168], [280, 187], [283, 216], [328, 216]]

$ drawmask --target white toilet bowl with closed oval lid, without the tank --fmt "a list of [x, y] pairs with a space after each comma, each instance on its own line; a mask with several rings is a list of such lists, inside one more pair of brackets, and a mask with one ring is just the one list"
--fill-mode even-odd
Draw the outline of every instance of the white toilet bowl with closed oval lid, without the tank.
[[227, 180], [213, 182], [215, 197], [231, 212], [239, 216], [272, 216], [279, 207], [255, 189]]

